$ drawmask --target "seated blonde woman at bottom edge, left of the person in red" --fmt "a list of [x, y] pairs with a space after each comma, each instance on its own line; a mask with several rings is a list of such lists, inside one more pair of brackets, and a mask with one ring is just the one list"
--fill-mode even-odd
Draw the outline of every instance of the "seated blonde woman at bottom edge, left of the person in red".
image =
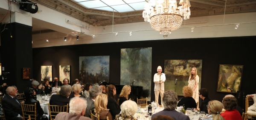
[[201, 117], [199, 120], [225, 120], [221, 115], [223, 105], [220, 101], [211, 100], [207, 105], [207, 111], [210, 115]]

